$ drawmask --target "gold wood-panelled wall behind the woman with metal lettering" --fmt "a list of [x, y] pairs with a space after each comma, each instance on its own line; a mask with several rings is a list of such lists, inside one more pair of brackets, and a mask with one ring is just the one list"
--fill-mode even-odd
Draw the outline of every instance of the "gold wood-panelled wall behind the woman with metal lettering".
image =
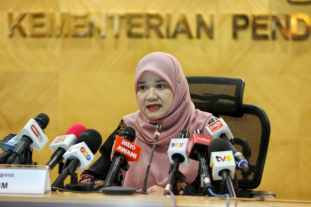
[[[22, 13], [25, 36], [12, 26]], [[233, 15], [249, 21], [236, 39]], [[305, 21], [295, 23], [296, 30], [291, 21], [286, 26], [286, 15]], [[0, 0], [0, 139], [46, 113], [49, 143], [34, 151], [38, 164], [48, 161], [50, 142], [74, 123], [99, 131], [104, 142], [123, 116], [138, 109], [137, 62], [161, 51], [174, 55], [186, 76], [243, 78], [243, 102], [263, 108], [271, 123], [257, 190], [273, 191], [278, 199], [310, 200], [311, 38], [293, 40], [291, 32], [310, 32], [307, 16], [310, 3], [287, 0]], [[267, 39], [253, 38], [254, 17], [256, 34]], [[282, 31], [273, 24], [276, 17]], [[55, 24], [61, 26], [62, 18], [67, 25], [59, 30]], [[50, 177], [53, 182], [57, 169]]]

